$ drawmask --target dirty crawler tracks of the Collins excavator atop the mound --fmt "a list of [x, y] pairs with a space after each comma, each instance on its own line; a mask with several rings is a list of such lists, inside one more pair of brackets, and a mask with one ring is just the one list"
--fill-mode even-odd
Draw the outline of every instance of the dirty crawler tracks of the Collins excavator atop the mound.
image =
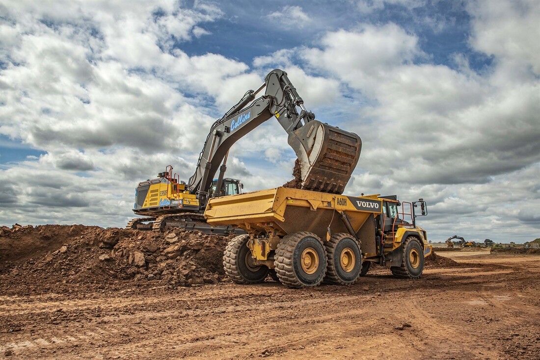
[[[143, 222], [151, 221], [148, 224]], [[127, 223], [126, 228], [139, 230], [153, 230], [160, 232], [167, 228], [181, 228], [188, 231], [199, 230], [208, 235], [245, 234], [244, 230], [233, 226], [212, 226], [206, 222], [203, 214], [184, 213], [184, 214], [166, 214], [153, 216], [149, 218], [133, 219]]]

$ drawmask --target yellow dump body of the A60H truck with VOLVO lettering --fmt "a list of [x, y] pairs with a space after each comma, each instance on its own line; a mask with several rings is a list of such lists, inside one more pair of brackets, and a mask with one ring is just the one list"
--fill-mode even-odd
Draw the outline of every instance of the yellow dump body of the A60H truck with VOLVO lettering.
[[341, 212], [357, 232], [369, 218], [380, 214], [377, 195], [345, 196], [278, 187], [208, 201], [205, 218], [211, 225], [235, 225], [248, 233], [277, 228], [281, 235], [308, 231], [326, 236], [347, 233]]

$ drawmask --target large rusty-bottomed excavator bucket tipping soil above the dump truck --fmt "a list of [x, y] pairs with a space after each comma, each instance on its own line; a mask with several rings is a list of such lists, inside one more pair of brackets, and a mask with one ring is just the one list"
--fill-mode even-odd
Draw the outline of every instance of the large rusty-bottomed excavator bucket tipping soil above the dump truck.
[[302, 189], [343, 193], [360, 158], [358, 135], [312, 120], [289, 133], [288, 143], [300, 161]]

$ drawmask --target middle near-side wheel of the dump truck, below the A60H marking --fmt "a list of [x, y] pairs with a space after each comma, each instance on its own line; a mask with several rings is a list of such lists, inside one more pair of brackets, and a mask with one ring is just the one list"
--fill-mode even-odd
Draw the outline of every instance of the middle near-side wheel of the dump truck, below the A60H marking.
[[339, 233], [326, 243], [328, 269], [325, 282], [351, 285], [358, 280], [362, 270], [362, 254], [358, 242], [349, 234]]

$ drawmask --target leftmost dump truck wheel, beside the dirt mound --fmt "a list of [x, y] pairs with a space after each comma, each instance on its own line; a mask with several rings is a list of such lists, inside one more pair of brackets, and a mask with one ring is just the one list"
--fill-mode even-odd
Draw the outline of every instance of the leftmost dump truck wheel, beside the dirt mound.
[[238, 235], [228, 243], [223, 255], [225, 274], [237, 284], [257, 284], [268, 275], [264, 265], [253, 264], [251, 250], [247, 247], [249, 235]]

